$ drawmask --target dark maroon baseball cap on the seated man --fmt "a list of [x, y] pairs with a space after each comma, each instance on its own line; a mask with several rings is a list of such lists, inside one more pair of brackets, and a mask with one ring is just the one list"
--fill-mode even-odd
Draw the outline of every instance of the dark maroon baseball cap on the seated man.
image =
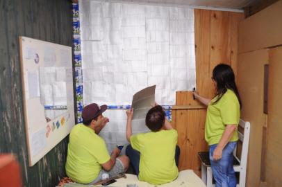
[[96, 118], [97, 116], [105, 112], [106, 109], [107, 109], [107, 105], [99, 106], [96, 103], [87, 105], [86, 107], [83, 108], [82, 111], [83, 121], [90, 121]]

